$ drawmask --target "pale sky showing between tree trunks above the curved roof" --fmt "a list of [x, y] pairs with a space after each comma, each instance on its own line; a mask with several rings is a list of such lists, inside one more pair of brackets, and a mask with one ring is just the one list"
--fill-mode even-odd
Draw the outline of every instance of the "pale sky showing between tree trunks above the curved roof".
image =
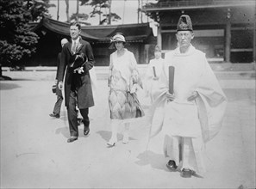
[[[156, 0], [143, 0], [144, 3], [155, 3]], [[57, 20], [57, 0], [50, 0], [50, 3], [56, 5], [54, 8], [49, 9], [49, 14], [52, 15], [54, 20]], [[77, 0], [69, 0], [69, 14], [72, 15], [76, 12]], [[112, 0], [111, 12], [119, 15], [122, 20], [120, 21], [112, 21], [112, 25], [117, 24], [129, 24], [129, 23], [138, 23], [138, 0]], [[85, 13], [90, 15], [92, 11], [91, 6], [79, 6], [79, 13]], [[151, 19], [147, 18], [147, 15], [142, 16], [143, 22], [151, 21]], [[59, 0], [59, 21], [66, 21], [66, 3], [65, 0]], [[99, 19], [98, 16], [94, 18], [89, 18], [87, 22], [91, 23], [91, 25], [98, 25]]]

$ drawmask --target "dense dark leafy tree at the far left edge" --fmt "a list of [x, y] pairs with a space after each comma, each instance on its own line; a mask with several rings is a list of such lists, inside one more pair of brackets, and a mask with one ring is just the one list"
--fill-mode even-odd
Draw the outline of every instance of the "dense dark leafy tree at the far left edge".
[[23, 65], [38, 42], [37, 34], [28, 27], [30, 12], [22, 0], [1, 0], [0, 11], [0, 63], [9, 67]]

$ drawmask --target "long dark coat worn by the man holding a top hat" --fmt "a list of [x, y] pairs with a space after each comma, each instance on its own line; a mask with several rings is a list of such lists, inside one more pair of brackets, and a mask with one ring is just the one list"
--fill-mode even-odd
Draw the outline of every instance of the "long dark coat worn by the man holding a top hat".
[[[82, 40], [80, 37], [76, 53], [84, 53], [84, 73], [73, 73], [73, 70], [69, 67], [73, 61], [72, 43], [66, 43], [61, 52], [59, 70], [58, 70], [58, 82], [63, 81], [65, 75], [65, 105], [69, 104], [69, 95], [71, 90], [76, 89], [78, 92], [78, 108], [84, 109], [94, 106], [94, 100], [91, 89], [91, 77], [89, 70], [95, 64], [92, 48], [89, 42]], [[86, 62], [87, 60], [87, 62]]]

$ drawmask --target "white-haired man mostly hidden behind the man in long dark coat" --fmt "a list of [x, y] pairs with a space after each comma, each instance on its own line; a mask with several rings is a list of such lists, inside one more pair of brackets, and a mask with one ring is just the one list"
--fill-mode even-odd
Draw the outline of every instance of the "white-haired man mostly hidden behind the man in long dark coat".
[[[62, 39], [60, 41], [61, 47], [63, 47], [66, 43], [68, 43], [68, 40], [66, 40], [66, 38]], [[58, 83], [58, 70], [59, 70], [59, 62], [60, 62], [60, 56], [61, 56], [61, 52], [59, 52], [58, 54], [58, 59], [57, 59], [57, 72], [56, 72], [56, 79], [55, 79], [55, 86]], [[57, 101], [53, 107], [53, 113], [50, 113], [50, 116], [53, 118], [57, 118], [59, 119], [59, 113], [60, 113], [60, 107], [63, 101], [63, 96], [62, 96], [62, 92], [61, 90], [59, 90], [59, 88], [56, 88], [56, 95], [57, 95]]]

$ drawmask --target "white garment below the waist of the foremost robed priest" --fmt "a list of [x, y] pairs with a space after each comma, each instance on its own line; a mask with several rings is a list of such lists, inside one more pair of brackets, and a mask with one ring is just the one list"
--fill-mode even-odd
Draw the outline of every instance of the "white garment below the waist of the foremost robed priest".
[[165, 107], [164, 153], [178, 168], [205, 173], [204, 143], [195, 103], [172, 102]]

